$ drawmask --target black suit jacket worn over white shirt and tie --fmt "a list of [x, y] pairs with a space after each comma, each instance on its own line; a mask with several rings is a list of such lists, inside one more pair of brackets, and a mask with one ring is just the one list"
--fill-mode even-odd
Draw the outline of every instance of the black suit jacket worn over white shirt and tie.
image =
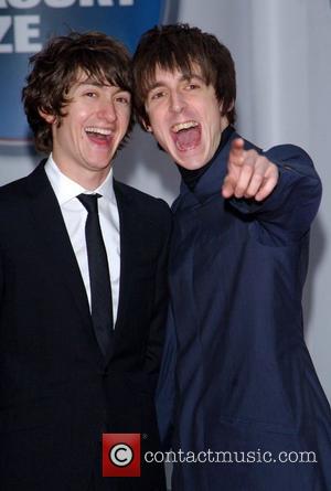
[[[62, 213], [41, 163], [0, 190], [0, 489], [84, 491], [102, 433], [157, 449], [153, 393], [167, 310], [167, 204], [119, 182], [121, 273], [106, 360]], [[113, 478], [109, 478], [113, 479]], [[161, 466], [119, 488], [161, 490]], [[116, 488], [117, 489], [117, 488]]]

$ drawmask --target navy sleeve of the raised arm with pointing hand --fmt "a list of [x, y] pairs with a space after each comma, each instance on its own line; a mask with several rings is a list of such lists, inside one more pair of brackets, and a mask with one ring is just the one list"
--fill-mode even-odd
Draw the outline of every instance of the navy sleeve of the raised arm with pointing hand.
[[284, 145], [263, 153], [279, 170], [273, 193], [263, 202], [231, 199], [231, 206], [280, 242], [297, 242], [309, 231], [321, 201], [322, 185], [310, 157]]

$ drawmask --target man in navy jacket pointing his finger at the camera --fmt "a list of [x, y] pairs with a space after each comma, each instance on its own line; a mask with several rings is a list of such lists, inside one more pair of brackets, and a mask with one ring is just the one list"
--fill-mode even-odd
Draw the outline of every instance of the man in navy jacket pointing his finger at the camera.
[[173, 425], [181, 450], [173, 490], [327, 491], [330, 406], [301, 312], [321, 199], [312, 162], [298, 147], [263, 151], [237, 135], [234, 62], [196, 28], [141, 38], [134, 94], [142, 128], [182, 177], [158, 391], [162, 438]]

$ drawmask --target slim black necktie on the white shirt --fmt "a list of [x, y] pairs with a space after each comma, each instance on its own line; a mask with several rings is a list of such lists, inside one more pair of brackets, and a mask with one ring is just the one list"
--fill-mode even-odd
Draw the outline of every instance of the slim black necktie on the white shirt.
[[113, 301], [107, 253], [103, 239], [99, 194], [79, 194], [77, 199], [87, 210], [85, 237], [90, 284], [90, 313], [96, 338], [103, 353], [109, 351], [113, 338]]

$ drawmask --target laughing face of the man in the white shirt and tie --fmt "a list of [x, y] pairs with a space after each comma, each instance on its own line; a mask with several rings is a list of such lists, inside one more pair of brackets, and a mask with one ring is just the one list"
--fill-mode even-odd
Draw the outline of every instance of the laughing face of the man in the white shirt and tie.
[[64, 174], [86, 189], [107, 177], [130, 120], [130, 94], [81, 73], [66, 94], [60, 125], [52, 115], [53, 158]]

